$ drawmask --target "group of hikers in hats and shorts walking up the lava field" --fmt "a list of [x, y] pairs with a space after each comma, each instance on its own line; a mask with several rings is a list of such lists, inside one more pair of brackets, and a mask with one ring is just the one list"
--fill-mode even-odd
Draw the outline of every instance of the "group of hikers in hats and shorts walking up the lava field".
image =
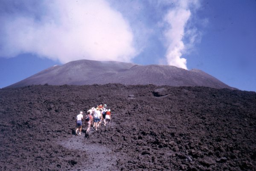
[[[81, 111], [79, 115], [76, 116], [76, 135], [81, 135], [82, 131], [82, 121], [85, 121], [86, 134], [89, 133], [91, 126], [97, 131], [97, 129], [101, 126], [101, 123], [106, 126], [106, 124], [110, 124], [111, 121], [111, 110], [107, 109], [107, 104], [100, 104], [96, 108], [92, 107], [86, 112], [85, 117], [83, 116], [83, 112]], [[78, 131], [79, 130], [79, 134]]]

